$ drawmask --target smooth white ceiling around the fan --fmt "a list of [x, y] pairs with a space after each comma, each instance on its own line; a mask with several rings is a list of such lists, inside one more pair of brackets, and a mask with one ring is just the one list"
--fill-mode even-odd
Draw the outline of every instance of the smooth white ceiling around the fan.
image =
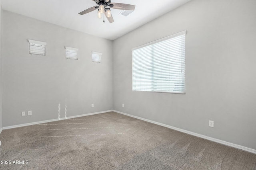
[[[158, 18], [190, 0], [111, 0], [136, 5], [128, 16], [112, 9], [113, 23], [97, 18], [97, 10], [79, 15], [96, 3], [92, 0], [1, 0], [2, 9], [38, 20], [54, 23], [98, 37], [114, 40]], [[145, 3], [146, 2], [146, 3]]]

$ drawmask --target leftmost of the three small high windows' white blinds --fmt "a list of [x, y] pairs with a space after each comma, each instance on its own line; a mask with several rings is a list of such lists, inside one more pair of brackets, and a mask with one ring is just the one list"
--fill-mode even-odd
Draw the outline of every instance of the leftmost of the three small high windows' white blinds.
[[29, 53], [37, 55], [45, 55], [46, 43], [42, 41], [28, 40], [29, 42]]

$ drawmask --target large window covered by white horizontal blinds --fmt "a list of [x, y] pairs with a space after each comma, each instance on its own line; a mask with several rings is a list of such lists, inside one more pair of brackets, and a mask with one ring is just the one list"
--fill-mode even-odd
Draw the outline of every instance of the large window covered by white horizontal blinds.
[[132, 49], [132, 90], [185, 94], [186, 31]]

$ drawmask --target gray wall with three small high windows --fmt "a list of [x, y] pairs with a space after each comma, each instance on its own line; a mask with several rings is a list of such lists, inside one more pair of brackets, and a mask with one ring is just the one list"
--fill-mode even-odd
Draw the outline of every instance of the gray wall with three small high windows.
[[[112, 109], [112, 41], [5, 10], [2, 23], [3, 127]], [[28, 39], [46, 42], [46, 56], [30, 55]]]

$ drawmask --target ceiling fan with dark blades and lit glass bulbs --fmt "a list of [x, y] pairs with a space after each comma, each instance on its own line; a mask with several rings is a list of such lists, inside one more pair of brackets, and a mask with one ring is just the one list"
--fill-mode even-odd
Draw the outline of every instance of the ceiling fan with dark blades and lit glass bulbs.
[[[79, 13], [80, 15], [84, 15], [98, 9], [98, 18], [102, 18], [102, 13], [104, 13], [108, 21], [112, 23], [114, 22], [114, 19], [111, 15], [110, 8], [118, 9], [118, 10], [132, 10], [132, 11], [134, 11], [135, 9], [135, 5], [111, 3], [111, 0], [92, 0], [92, 1], [96, 2], [97, 6], [93, 6], [91, 8], [88, 8], [87, 10], [80, 12]], [[103, 22], [105, 21], [103, 20]]]

